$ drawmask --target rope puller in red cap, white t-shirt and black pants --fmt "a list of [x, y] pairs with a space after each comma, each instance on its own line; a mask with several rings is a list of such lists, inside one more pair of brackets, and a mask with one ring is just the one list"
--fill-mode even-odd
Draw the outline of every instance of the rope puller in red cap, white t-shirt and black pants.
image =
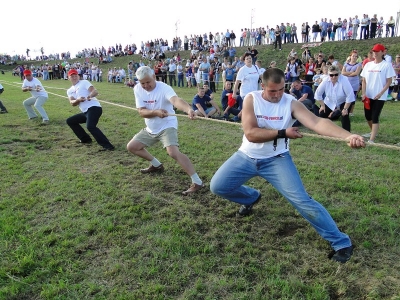
[[83, 144], [92, 143], [92, 138], [80, 124], [86, 123], [86, 128], [93, 135], [96, 142], [102, 147], [100, 151], [114, 150], [104, 133], [97, 127], [97, 123], [103, 113], [103, 109], [96, 96], [99, 94], [94, 86], [87, 80], [80, 80], [78, 72], [71, 69], [68, 79], [72, 87], [67, 90], [69, 102], [72, 106], [79, 106], [81, 113], [67, 119], [68, 126]]

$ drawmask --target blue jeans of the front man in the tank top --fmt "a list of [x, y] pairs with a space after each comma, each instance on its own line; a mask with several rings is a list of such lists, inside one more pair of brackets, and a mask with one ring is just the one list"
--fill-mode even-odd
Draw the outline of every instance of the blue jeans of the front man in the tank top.
[[230, 201], [249, 205], [260, 192], [244, 183], [255, 176], [277, 189], [334, 250], [351, 246], [350, 238], [339, 231], [328, 211], [307, 194], [289, 152], [253, 159], [237, 151], [214, 174], [210, 190]]

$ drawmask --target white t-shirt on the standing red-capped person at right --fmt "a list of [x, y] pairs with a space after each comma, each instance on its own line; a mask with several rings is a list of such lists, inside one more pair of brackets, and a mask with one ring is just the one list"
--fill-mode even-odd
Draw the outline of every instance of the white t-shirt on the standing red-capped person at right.
[[[365, 64], [360, 76], [364, 77], [366, 81], [365, 96], [373, 99], [382, 91], [386, 85], [386, 80], [396, 76], [396, 73], [393, 66], [384, 60], [379, 64], [370, 61]], [[387, 95], [388, 90], [383, 93], [379, 100], [386, 101]]]

